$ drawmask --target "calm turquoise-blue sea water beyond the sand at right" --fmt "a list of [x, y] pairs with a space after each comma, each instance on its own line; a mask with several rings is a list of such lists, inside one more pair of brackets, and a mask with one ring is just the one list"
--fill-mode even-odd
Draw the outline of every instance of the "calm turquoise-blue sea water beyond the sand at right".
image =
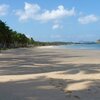
[[100, 50], [100, 44], [71, 44], [71, 45], [62, 45], [60, 48], [67, 49], [92, 49], [92, 50]]

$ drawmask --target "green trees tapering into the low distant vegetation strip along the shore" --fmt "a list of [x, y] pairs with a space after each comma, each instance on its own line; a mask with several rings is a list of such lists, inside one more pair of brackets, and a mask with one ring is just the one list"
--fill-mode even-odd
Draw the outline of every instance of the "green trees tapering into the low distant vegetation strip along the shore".
[[0, 20], [0, 49], [66, 44], [72, 44], [72, 42], [34, 41], [33, 38], [28, 38], [25, 34], [14, 31], [5, 22]]

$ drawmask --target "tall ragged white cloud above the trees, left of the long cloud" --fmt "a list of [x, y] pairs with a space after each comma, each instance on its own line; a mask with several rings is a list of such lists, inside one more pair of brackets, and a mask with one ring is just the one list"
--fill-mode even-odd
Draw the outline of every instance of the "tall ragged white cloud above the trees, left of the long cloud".
[[17, 10], [16, 15], [19, 16], [19, 20], [25, 21], [28, 19], [35, 19], [40, 7], [37, 4], [30, 4], [25, 2], [24, 10]]

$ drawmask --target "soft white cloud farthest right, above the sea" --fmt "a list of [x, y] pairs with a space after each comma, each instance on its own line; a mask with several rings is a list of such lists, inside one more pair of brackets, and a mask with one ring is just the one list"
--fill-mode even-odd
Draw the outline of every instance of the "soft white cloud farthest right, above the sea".
[[98, 17], [93, 15], [93, 14], [91, 14], [91, 15], [88, 15], [88, 16], [80, 17], [78, 19], [78, 21], [81, 24], [89, 24], [89, 23], [97, 22], [98, 21]]

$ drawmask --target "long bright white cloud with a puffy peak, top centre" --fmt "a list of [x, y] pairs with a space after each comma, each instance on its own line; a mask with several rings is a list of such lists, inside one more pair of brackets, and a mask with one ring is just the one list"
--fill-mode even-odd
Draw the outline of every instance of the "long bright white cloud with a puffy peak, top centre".
[[64, 6], [60, 5], [56, 10], [46, 10], [44, 13], [41, 14], [40, 20], [49, 21], [49, 20], [56, 20], [65, 16], [73, 16], [75, 15], [75, 9], [72, 8], [71, 10], [67, 10]]

